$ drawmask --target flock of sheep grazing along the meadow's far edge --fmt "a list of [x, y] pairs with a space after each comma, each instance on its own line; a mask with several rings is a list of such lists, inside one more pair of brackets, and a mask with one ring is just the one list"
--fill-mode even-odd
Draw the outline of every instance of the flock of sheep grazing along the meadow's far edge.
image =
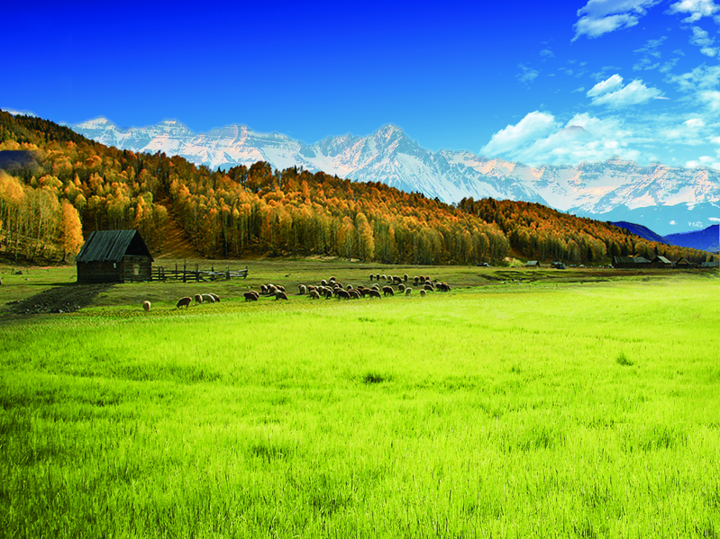
[[[360, 298], [366, 297], [370, 299], [382, 299], [383, 296], [394, 296], [396, 292], [409, 296], [413, 292], [413, 289], [406, 284], [410, 280], [407, 274], [402, 277], [397, 275], [370, 274], [369, 280], [370, 282], [375, 281], [375, 283], [370, 286], [364, 286], [362, 284], [358, 286], [346, 284], [343, 286], [335, 277], [330, 277], [330, 279], [327, 280], [323, 279], [319, 284], [299, 284], [298, 295], [306, 295], [311, 300], [319, 300], [320, 298], [329, 300], [333, 297], [338, 300], [359, 300]], [[381, 282], [385, 284], [381, 285]], [[433, 279], [428, 276], [415, 276], [412, 282], [416, 287], [421, 287], [419, 292], [421, 296], [424, 296], [427, 292], [450, 292], [451, 290], [450, 284], [433, 281]], [[251, 290], [244, 292], [242, 295], [245, 301], [258, 301], [260, 300], [260, 296], [274, 297], [276, 301], [287, 301], [287, 291], [281, 284], [261, 284], [260, 292]], [[197, 305], [201, 303], [215, 303], [220, 301], [220, 297], [214, 293], [195, 294], [192, 298], [190, 296], [180, 298], [176, 303], [176, 308], [189, 308], [193, 301], [195, 301]], [[142, 308], [144, 310], [148, 311], [150, 307], [150, 301], [142, 302]]]

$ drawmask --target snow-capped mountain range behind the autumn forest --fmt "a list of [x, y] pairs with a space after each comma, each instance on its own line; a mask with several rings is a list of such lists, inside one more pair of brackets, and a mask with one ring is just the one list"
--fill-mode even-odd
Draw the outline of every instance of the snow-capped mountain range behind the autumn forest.
[[[432, 152], [395, 125], [365, 137], [327, 137], [312, 145], [243, 125], [196, 134], [177, 120], [123, 129], [97, 118], [68, 127], [109, 146], [161, 151], [210, 168], [251, 166], [257, 161], [278, 169], [302, 166], [352, 180], [382, 182], [443, 202], [490, 196], [540, 202], [595, 219], [605, 219], [604, 214], [612, 212], [614, 220], [631, 220], [624, 219], [624, 211], [672, 206], [678, 219], [652, 223], [652, 229], [661, 234], [682, 231], [688, 225], [704, 228], [712, 224], [708, 219], [720, 219], [720, 172], [714, 169], [639, 166], [620, 159], [579, 166], [526, 166], [469, 151]], [[706, 209], [702, 220], [691, 215], [697, 205]]]

